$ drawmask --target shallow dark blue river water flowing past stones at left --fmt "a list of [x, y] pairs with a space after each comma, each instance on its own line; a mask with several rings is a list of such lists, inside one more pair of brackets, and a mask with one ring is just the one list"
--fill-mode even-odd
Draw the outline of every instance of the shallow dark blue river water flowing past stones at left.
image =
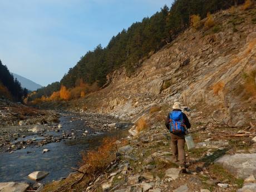
[[[83, 131], [85, 126], [83, 121], [76, 120], [71, 122], [72, 116], [63, 116], [60, 119], [62, 130], [68, 131]], [[27, 175], [33, 171], [48, 171], [50, 174], [46, 178], [40, 180], [41, 183], [58, 180], [66, 177], [72, 172], [71, 167], [78, 167], [81, 159], [81, 151], [93, 149], [101, 144], [101, 141], [106, 136], [115, 136], [117, 138], [127, 136], [127, 125], [121, 126], [119, 129], [108, 132], [93, 132], [90, 128], [86, 128], [88, 136], [78, 137], [77, 139], [62, 140], [61, 142], [51, 142], [42, 147], [28, 146], [26, 149], [14, 151], [12, 154], [4, 152], [0, 154], [0, 182], [8, 181], [25, 181], [33, 183]], [[51, 131], [50, 134], [59, 134], [62, 132]], [[26, 139], [31, 139], [24, 138]], [[43, 139], [36, 136], [35, 139]], [[43, 149], [50, 151], [42, 153]]]

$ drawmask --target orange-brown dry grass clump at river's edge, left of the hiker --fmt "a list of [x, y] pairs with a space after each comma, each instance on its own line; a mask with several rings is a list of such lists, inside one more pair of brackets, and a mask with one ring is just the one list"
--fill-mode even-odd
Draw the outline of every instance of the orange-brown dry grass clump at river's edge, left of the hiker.
[[116, 139], [112, 137], [105, 138], [97, 150], [82, 152], [80, 170], [91, 175], [102, 173], [116, 159], [116, 151]]

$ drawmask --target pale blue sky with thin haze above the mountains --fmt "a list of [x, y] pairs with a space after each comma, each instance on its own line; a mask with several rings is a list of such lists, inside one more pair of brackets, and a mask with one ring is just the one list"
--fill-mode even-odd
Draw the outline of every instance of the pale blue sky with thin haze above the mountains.
[[43, 86], [171, 0], [0, 0], [0, 59]]

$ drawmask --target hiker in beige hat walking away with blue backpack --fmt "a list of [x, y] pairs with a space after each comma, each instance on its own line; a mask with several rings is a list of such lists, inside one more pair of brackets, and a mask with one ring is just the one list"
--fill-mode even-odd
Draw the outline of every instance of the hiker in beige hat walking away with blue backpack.
[[186, 129], [190, 129], [191, 125], [188, 117], [181, 111], [180, 102], [174, 103], [173, 111], [168, 114], [165, 120], [165, 126], [171, 134], [171, 149], [173, 150], [174, 161], [178, 162], [179, 157], [181, 170], [185, 173], [185, 134]]

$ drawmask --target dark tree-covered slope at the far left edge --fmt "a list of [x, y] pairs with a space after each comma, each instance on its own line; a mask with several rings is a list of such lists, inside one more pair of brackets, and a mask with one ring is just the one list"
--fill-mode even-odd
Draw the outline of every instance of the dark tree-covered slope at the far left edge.
[[7, 66], [3, 65], [0, 60], [0, 95], [15, 101], [22, 101], [27, 94], [28, 90], [21, 87], [21, 83], [17, 78], [14, 79]]

